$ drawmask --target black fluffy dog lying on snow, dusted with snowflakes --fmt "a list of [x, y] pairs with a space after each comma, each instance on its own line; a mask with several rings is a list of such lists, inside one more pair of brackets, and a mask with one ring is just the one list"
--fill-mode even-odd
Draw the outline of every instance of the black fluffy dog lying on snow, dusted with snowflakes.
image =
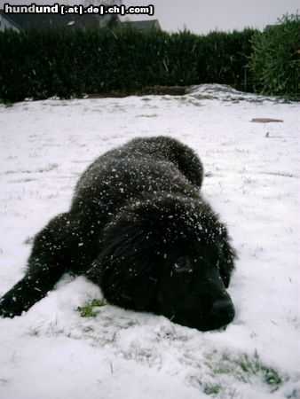
[[202, 176], [201, 160], [171, 137], [136, 138], [100, 156], [69, 212], [36, 235], [27, 273], [0, 300], [0, 315], [20, 315], [68, 271], [125, 309], [201, 331], [230, 323], [225, 288], [235, 253], [201, 197]]

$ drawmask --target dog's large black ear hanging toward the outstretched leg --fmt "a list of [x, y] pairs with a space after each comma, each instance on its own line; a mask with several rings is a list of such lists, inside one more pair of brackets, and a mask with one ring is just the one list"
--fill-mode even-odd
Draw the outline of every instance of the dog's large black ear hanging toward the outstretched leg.
[[154, 231], [130, 215], [108, 226], [102, 251], [87, 276], [100, 286], [108, 302], [122, 308], [151, 310], [158, 270]]

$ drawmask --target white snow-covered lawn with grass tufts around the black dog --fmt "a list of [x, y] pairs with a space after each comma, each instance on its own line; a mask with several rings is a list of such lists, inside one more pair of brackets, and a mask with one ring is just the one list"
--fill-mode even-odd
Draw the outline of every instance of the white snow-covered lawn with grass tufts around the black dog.
[[[110, 305], [82, 317], [99, 288], [65, 276], [28, 313], [0, 319], [0, 398], [300, 397], [297, 107], [218, 86], [0, 106], [0, 296], [22, 277], [30, 238], [67, 210], [83, 169], [137, 136], [170, 135], [199, 153], [202, 191], [240, 256], [236, 317], [220, 332]], [[259, 117], [283, 122], [251, 122]]]

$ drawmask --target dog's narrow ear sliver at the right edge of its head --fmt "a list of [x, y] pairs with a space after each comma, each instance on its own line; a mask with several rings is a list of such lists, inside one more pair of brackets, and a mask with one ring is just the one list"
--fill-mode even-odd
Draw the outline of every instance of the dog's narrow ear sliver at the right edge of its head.
[[218, 268], [225, 288], [228, 288], [237, 254], [231, 245], [231, 239], [228, 236], [225, 225], [220, 223], [218, 230], [220, 232], [218, 240]]

